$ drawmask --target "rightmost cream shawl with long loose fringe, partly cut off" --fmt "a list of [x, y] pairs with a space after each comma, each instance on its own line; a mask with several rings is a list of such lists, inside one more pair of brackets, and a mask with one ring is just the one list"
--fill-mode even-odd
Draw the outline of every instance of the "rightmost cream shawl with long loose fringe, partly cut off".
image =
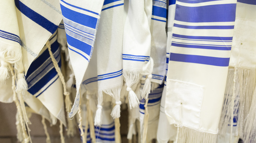
[[[218, 142], [256, 142], [256, 1], [238, 0]], [[230, 128], [230, 126], [232, 128]]]

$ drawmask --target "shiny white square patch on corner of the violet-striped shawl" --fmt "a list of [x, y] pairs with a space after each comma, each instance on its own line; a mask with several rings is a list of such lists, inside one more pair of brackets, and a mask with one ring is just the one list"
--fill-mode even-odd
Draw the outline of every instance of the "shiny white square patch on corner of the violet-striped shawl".
[[170, 124], [199, 129], [203, 86], [167, 80], [165, 113]]

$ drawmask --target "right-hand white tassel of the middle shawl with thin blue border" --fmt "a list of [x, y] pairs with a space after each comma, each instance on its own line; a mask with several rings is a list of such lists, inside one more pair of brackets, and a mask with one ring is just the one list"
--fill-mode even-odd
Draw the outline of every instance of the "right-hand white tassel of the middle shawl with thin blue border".
[[145, 84], [144, 84], [144, 87], [143, 87], [142, 93], [141, 93], [141, 98], [144, 98], [144, 99], [147, 99], [148, 94], [150, 93], [150, 89], [151, 89], [150, 79], [152, 78], [153, 66], [154, 66], [154, 61], [153, 61], [153, 58], [150, 57], [150, 60], [142, 68], [141, 74], [147, 76], [147, 79], [145, 80]]

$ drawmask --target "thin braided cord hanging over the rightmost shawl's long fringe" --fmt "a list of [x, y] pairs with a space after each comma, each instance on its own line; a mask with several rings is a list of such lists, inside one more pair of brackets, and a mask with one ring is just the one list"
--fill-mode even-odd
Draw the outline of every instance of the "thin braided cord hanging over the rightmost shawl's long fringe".
[[232, 94], [232, 100], [231, 100], [231, 118], [230, 118], [230, 138], [229, 142], [232, 143], [232, 133], [233, 133], [233, 118], [234, 118], [234, 106], [235, 106], [235, 90], [236, 90], [236, 72], [237, 68], [234, 68], [234, 79], [233, 79], [233, 94]]

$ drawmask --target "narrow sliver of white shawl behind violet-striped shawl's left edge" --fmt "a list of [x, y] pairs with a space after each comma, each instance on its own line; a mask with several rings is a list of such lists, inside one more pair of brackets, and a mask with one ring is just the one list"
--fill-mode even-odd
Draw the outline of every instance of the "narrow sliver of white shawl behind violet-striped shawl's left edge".
[[168, 70], [168, 62], [170, 55], [170, 46], [172, 39], [172, 26], [174, 22], [174, 14], [175, 14], [175, 2], [176, 0], [168, 1], [168, 21], [167, 21], [167, 46], [166, 46], [166, 64], [165, 64], [165, 81], [163, 87], [163, 94], [160, 103], [160, 114], [159, 114], [159, 123], [157, 128], [157, 141], [160, 143], [167, 143], [169, 140], [174, 141], [177, 128], [174, 125], [170, 125], [164, 111], [165, 105], [165, 96], [166, 96], [166, 75]]

